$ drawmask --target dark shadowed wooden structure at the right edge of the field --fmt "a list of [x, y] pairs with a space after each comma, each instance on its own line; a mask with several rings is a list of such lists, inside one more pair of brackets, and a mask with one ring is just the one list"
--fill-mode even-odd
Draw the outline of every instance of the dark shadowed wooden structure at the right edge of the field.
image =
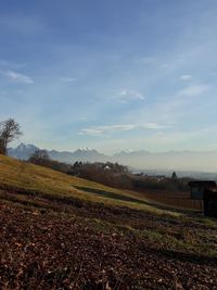
[[217, 217], [217, 186], [213, 180], [190, 181], [191, 198], [203, 200], [204, 215]]

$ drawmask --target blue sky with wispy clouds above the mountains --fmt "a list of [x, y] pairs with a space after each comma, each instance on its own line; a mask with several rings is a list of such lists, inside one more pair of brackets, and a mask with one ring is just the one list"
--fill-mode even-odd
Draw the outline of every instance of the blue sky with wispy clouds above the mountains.
[[40, 148], [217, 150], [216, 0], [2, 0], [0, 121]]

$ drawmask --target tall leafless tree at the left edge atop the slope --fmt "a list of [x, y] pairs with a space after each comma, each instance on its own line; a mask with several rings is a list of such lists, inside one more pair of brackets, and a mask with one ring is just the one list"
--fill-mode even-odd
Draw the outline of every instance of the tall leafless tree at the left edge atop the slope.
[[8, 144], [21, 135], [21, 126], [13, 118], [0, 122], [0, 153], [5, 155]]

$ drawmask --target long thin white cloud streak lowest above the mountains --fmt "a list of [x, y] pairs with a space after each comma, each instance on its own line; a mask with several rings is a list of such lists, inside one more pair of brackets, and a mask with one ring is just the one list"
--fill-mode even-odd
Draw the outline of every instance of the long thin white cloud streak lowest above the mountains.
[[79, 131], [79, 135], [89, 135], [89, 136], [104, 136], [107, 134], [119, 133], [119, 131], [130, 131], [135, 129], [165, 129], [167, 126], [146, 123], [141, 125], [136, 124], [126, 124], [126, 125], [110, 125], [110, 126], [94, 126], [90, 128], [84, 128]]

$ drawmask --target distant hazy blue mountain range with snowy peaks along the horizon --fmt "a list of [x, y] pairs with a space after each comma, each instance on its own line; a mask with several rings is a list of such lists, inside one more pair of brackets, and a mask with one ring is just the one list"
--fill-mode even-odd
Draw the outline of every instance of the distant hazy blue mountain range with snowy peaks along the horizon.
[[[34, 144], [21, 143], [16, 148], [10, 148], [10, 156], [28, 160], [37, 150]], [[192, 172], [217, 172], [217, 151], [168, 151], [149, 152], [120, 151], [114, 155], [105, 155], [90, 148], [80, 148], [74, 152], [47, 150], [50, 157], [60, 162], [75, 163], [81, 162], [118, 162], [130, 168], [142, 171], [192, 171]]]

